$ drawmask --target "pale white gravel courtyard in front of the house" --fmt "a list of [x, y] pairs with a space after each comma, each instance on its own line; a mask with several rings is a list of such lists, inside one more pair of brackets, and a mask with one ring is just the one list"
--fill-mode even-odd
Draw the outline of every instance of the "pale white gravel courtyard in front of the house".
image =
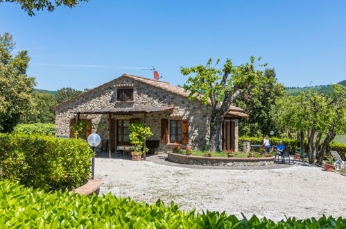
[[[156, 156], [155, 156], [156, 157]], [[227, 170], [172, 167], [150, 161], [96, 158], [101, 194], [112, 192], [182, 210], [287, 217], [346, 217], [346, 176], [300, 164], [282, 169]]]

